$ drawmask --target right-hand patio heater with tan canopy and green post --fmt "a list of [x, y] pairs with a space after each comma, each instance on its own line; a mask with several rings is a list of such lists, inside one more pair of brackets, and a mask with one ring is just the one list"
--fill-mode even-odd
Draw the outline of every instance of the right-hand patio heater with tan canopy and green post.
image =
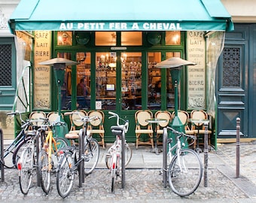
[[174, 108], [175, 117], [172, 120], [172, 128], [178, 130], [179, 132], [184, 132], [184, 125], [178, 118], [178, 83], [181, 78], [181, 66], [182, 65], [196, 65], [194, 62], [189, 62], [187, 60], [181, 59], [179, 57], [172, 57], [166, 59], [163, 62], [157, 63], [156, 68], [170, 68], [170, 73], [172, 75], [172, 85], [174, 86]]

